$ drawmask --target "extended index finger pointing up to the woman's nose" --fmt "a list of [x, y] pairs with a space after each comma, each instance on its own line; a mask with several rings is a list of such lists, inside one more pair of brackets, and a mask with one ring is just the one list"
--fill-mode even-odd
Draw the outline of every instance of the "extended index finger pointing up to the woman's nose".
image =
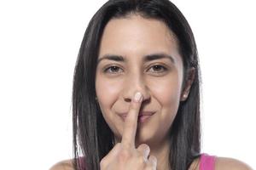
[[135, 147], [135, 137], [137, 132], [137, 117], [140, 111], [143, 95], [137, 92], [131, 100], [129, 112], [125, 118], [125, 126], [121, 144], [127, 147]]

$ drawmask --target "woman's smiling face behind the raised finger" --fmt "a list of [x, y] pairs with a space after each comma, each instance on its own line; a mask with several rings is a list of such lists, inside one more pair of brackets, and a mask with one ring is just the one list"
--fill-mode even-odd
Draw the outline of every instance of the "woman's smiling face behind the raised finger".
[[96, 69], [96, 96], [115, 139], [136, 91], [143, 94], [136, 144], [166, 139], [182, 100], [183, 60], [177, 40], [160, 20], [138, 15], [110, 20], [102, 35]]

